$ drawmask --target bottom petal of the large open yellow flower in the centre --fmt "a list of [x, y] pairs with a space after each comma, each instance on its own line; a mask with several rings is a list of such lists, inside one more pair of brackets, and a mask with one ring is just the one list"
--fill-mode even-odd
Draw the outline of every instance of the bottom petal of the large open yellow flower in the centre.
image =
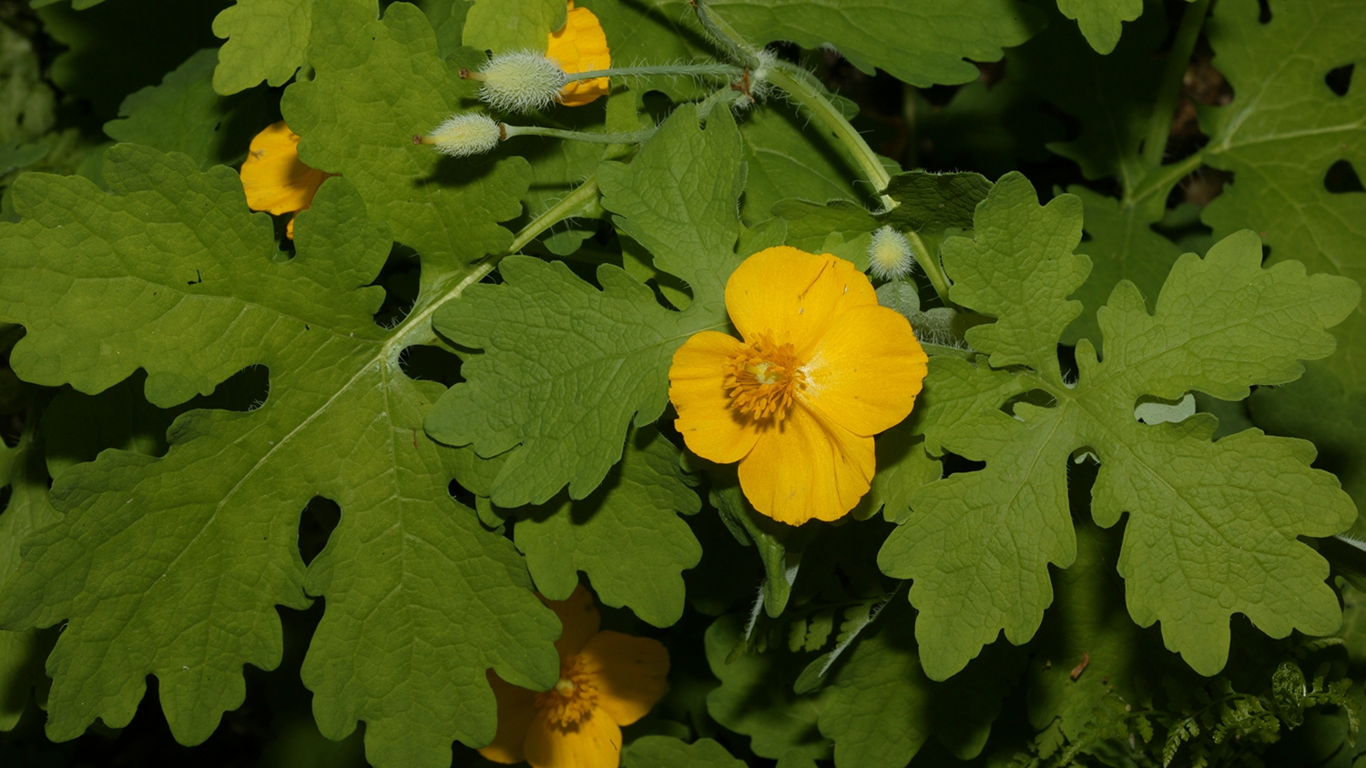
[[867, 492], [874, 467], [873, 438], [796, 402], [740, 460], [740, 490], [755, 510], [790, 525], [837, 520]]

